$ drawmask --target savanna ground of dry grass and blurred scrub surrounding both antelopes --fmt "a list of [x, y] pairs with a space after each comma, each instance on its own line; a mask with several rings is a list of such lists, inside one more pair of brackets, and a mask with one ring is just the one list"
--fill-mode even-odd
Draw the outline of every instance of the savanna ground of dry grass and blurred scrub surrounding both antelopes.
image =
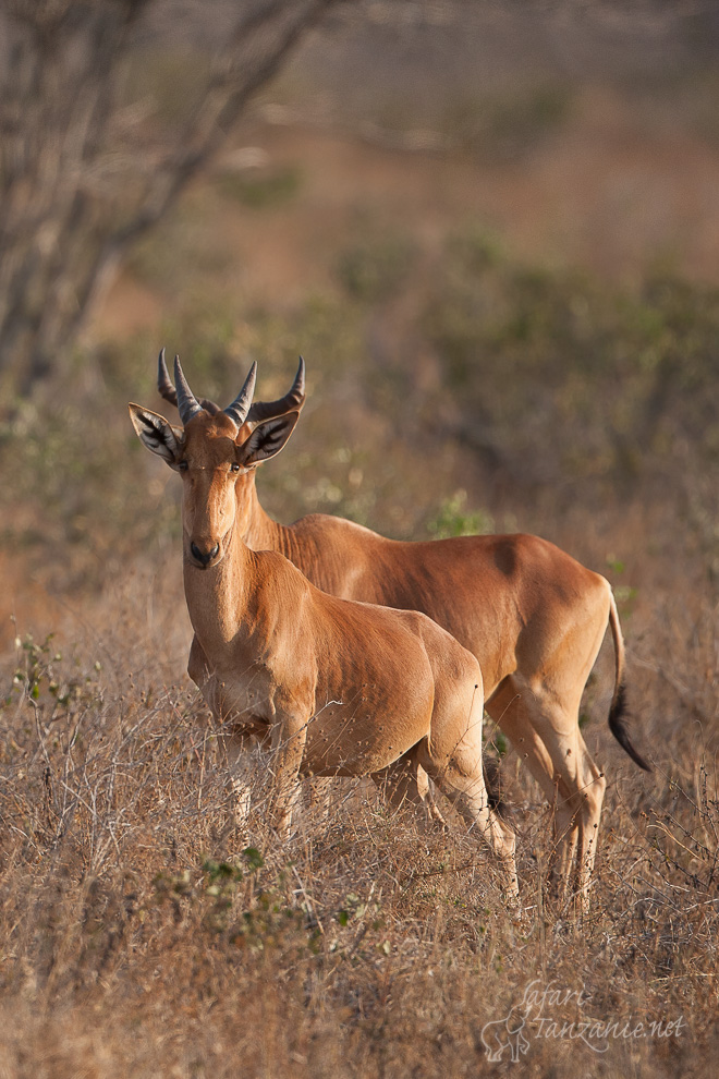
[[[258, 112], [137, 247], [64, 388], [9, 410], [3, 1079], [712, 1074], [712, 96], [698, 76], [544, 87], [480, 131], [459, 110], [441, 153]], [[267, 399], [305, 355], [305, 412], [259, 481], [277, 518], [537, 532], [612, 581], [655, 771], [608, 732], [606, 644], [582, 711], [609, 780], [588, 914], [543, 889], [549, 813], [489, 724], [519, 910], [459, 829], [426, 832], [362, 785], [338, 783], [329, 815], [309, 805], [282, 842], [258, 776], [244, 849], [184, 675], [179, 483], [126, 416], [159, 408], [161, 344], [228, 402], [252, 357]], [[533, 983], [559, 994], [540, 1013], [558, 1027], [536, 1005], [522, 1063], [489, 1063], [485, 1023]], [[614, 1026], [561, 1032], [580, 1020]]]

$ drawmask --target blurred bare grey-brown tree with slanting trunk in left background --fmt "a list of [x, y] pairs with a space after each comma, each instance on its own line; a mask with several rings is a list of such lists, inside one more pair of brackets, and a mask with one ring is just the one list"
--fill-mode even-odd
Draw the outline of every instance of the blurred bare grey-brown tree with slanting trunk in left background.
[[160, 0], [0, 0], [5, 402], [61, 369], [129, 245], [206, 166], [332, 2], [239, 3], [194, 109], [160, 137], [142, 110], [119, 106], [136, 28]]

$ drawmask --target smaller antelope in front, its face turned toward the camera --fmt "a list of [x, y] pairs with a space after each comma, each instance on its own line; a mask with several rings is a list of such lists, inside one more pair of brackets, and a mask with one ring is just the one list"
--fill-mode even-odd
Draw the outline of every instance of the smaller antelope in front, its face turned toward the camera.
[[[273, 817], [290, 827], [300, 775], [422, 767], [501, 859], [516, 895], [514, 837], [490, 811], [482, 768], [484, 691], [476, 658], [414, 610], [320, 592], [282, 554], [244, 540], [237, 488], [280, 448], [266, 423], [247, 437], [256, 364], [233, 403], [210, 412], [174, 364], [182, 428], [139, 405], [144, 445], [183, 480], [185, 596], [193, 667], [215, 716], [273, 751]], [[291, 421], [292, 425], [297, 413]], [[281, 425], [282, 432], [287, 420]]]

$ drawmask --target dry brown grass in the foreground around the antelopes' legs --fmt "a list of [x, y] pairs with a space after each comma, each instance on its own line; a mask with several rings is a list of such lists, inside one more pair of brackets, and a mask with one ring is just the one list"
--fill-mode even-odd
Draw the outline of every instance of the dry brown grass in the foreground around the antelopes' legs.
[[[545, 1004], [560, 1026], [683, 1021], [679, 1036], [588, 1047], [552, 1036], [535, 1008], [524, 1074], [709, 1074], [719, 803], [697, 725], [667, 735], [662, 723], [662, 745], [647, 723], [658, 762], [647, 779], [609, 751], [597, 882], [578, 920], [543, 896], [548, 814], [511, 755], [519, 911], [468, 837], [390, 815], [356, 784], [337, 784], [327, 817], [308, 800], [285, 842], [263, 819], [258, 776], [247, 849], [205, 710], [184, 683], [163, 683], [182, 669], [184, 625], [148, 617], [144, 594], [138, 573], [124, 595], [100, 597], [85, 630], [70, 627], [74, 648], [62, 632], [26, 639], [5, 667], [3, 1079], [475, 1076], [491, 1067], [485, 1023], [535, 979], [575, 991]], [[108, 614], [113, 628], [95, 631]], [[675, 625], [666, 670], [678, 693], [694, 687], [697, 714], [712, 701], [695, 676], [717, 648], [704, 615], [688, 635]], [[634, 689], [656, 707], [662, 681], [649, 672], [642, 686], [643, 669]]]

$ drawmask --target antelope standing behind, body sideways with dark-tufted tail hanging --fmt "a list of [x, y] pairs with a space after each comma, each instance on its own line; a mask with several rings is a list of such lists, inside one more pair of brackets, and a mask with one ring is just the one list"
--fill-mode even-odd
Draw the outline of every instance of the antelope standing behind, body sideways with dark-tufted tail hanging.
[[[163, 352], [158, 388], [171, 404], [180, 403]], [[301, 360], [284, 397], [249, 408], [235, 439], [244, 454], [234, 487], [235, 528], [248, 547], [280, 551], [324, 592], [424, 611], [472, 652], [482, 667], [487, 712], [553, 807], [556, 876], [584, 905], [606, 779], [580, 731], [578, 711], [608, 627], [616, 656], [609, 728], [649, 771], [626, 729], [624, 642], [609, 582], [538, 536], [407, 543], [321, 513], [278, 524], [259, 504], [255, 471], [282, 449], [304, 402]], [[202, 407], [210, 415], [220, 411], [207, 400]], [[195, 637], [188, 672], [198, 684], [206, 667]]]

